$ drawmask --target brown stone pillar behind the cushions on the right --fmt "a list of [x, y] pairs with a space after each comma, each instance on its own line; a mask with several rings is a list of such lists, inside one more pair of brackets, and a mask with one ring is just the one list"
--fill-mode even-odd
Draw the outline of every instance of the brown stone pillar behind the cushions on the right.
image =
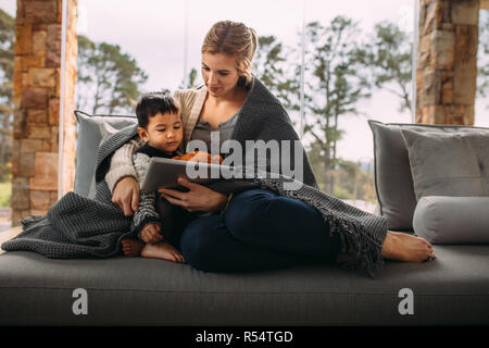
[[416, 123], [474, 124], [478, 0], [419, 0]]

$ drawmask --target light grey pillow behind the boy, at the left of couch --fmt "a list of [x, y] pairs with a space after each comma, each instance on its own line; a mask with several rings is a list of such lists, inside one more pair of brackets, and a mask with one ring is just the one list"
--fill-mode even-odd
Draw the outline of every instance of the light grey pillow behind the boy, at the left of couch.
[[75, 116], [78, 122], [78, 137], [73, 191], [92, 197], [95, 195], [97, 150], [100, 142], [118, 129], [137, 123], [137, 119], [123, 115], [90, 115], [78, 110], [75, 111]]

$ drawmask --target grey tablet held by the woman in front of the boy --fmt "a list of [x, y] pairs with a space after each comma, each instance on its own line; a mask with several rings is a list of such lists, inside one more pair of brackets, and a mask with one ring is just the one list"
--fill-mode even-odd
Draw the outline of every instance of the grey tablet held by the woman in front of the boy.
[[233, 176], [233, 166], [204, 162], [180, 161], [152, 157], [141, 189], [156, 191], [159, 187], [181, 187], [178, 177], [205, 184]]

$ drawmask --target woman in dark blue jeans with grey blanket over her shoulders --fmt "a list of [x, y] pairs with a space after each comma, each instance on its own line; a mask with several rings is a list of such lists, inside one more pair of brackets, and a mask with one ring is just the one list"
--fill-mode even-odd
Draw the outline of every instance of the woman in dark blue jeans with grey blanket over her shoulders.
[[[210, 29], [201, 50], [205, 86], [175, 94], [181, 104], [185, 144], [195, 139], [209, 144], [212, 130], [220, 130], [221, 142], [299, 139], [284, 108], [251, 75], [256, 45], [255, 32], [241, 23], [218, 22]], [[250, 110], [258, 110], [261, 119], [252, 119]], [[130, 159], [139, 145], [131, 140], [117, 150], [105, 176], [113, 191], [112, 201], [126, 216], [138, 207], [139, 186]], [[317, 187], [305, 156], [302, 165], [301, 182]], [[198, 270], [256, 271], [351, 258], [341, 252], [348, 251], [341, 234], [328, 233], [331, 225], [317, 209], [301, 200], [256, 188], [233, 196], [185, 179], [180, 184], [189, 190], [159, 191], [188, 212], [208, 212], [195, 216], [180, 238], [185, 259]], [[385, 229], [378, 250], [383, 258], [411, 262], [435, 258], [427, 240]], [[159, 245], [147, 251], [158, 257]]]

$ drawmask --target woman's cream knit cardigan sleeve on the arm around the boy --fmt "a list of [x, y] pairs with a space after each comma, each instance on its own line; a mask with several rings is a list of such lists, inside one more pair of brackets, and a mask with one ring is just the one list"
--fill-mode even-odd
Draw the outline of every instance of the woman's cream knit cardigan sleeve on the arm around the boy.
[[135, 137], [123, 145], [114, 152], [111, 159], [109, 172], [105, 174], [105, 182], [111, 192], [114, 191], [115, 185], [125, 176], [133, 176], [136, 178], [136, 171], [133, 165], [133, 156], [137, 149], [142, 146], [141, 138]]

